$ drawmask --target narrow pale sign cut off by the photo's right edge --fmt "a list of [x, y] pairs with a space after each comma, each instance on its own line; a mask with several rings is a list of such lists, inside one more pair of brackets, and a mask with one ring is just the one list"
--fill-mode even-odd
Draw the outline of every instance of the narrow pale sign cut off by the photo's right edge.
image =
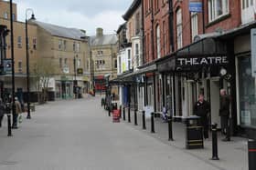
[[251, 74], [256, 77], [256, 28], [251, 29]]

